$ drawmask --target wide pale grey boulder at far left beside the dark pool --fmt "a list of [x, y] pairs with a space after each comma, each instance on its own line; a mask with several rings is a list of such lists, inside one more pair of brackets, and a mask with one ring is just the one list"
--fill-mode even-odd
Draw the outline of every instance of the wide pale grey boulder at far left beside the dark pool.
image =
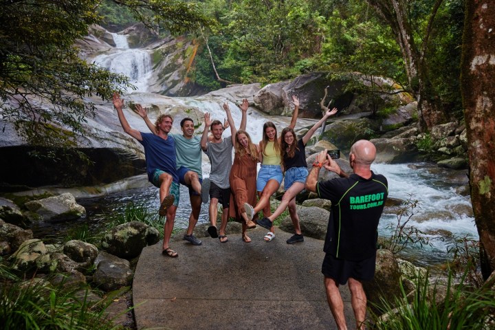
[[45, 221], [79, 219], [86, 215], [86, 209], [76, 203], [76, 199], [69, 192], [36, 201], [28, 201], [24, 205]]

